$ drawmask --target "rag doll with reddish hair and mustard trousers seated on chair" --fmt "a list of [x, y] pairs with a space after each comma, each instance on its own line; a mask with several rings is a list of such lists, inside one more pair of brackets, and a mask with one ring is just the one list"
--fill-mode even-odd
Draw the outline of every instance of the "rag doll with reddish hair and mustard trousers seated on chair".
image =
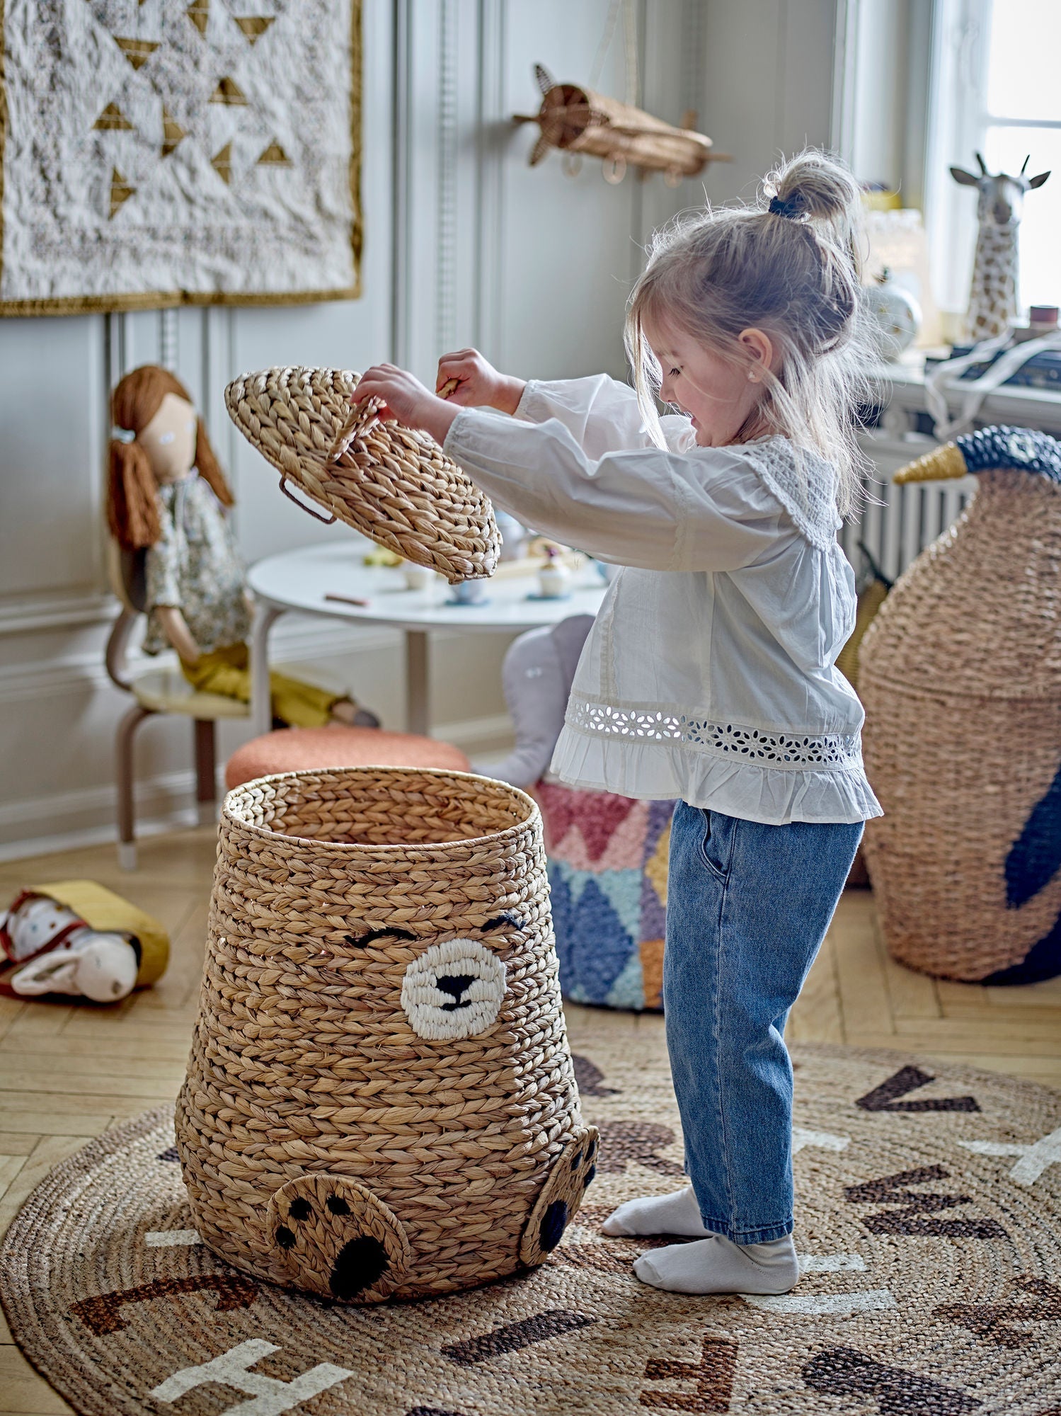
[[[110, 401], [108, 523], [144, 554], [144, 651], [173, 647], [201, 692], [250, 701], [250, 599], [225, 508], [232, 493], [188, 391], [168, 370], [134, 368]], [[347, 694], [272, 674], [273, 714], [297, 728], [379, 726]]]

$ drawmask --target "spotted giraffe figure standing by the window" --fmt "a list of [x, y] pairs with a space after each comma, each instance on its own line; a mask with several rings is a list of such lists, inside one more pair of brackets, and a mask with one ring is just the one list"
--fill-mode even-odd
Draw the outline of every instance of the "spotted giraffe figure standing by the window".
[[[1028, 153], [1028, 157], [1031, 154]], [[973, 256], [972, 289], [966, 324], [973, 341], [1004, 334], [1017, 313], [1017, 229], [1024, 212], [1024, 193], [1041, 187], [1048, 171], [1026, 177], [1028, 157], [1016, 177], [987, 171], [983, 157], [976, 153], [980, 173], [952, 167], [951, 176], [962, 187], [976, 187], [976, 255]]]

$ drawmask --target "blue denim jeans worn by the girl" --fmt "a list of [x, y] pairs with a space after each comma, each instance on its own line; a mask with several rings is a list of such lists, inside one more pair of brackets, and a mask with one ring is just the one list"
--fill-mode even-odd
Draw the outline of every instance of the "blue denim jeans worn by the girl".
[[685, 1167], [734, 1243], [792, 1232], [788, 1012], [863, 823], [761, 826], [679, 801], [666, 885], [663, 1011]]

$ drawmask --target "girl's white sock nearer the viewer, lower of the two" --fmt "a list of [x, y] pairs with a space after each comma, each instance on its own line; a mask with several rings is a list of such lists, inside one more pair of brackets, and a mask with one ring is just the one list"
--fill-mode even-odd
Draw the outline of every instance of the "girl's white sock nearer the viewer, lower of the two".
[[788, 1293], [799, 1279], [792, 1235], [736, 1245], [721, 1235], [651, 1249], [634, 1263], [642, 1283], [668, 1293]]

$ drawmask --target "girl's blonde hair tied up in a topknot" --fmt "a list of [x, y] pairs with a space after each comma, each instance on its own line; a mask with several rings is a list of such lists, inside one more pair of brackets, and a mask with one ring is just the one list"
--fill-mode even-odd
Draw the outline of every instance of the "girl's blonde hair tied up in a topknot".
[[850, 171], [815, 149], [782, 163], [751, 207], [710, 207], [652, 236], [627, 306], [627, 351], [645, 423], [665, 446], [655, 394], [662, 370], [645, 338], [661, 319], [734, 364], [738, 336], [761, 329], [779, 355], [736, 442], [782, 433], [837, 472], [840, 515], [856, 510], [869, 459], [856, 409], [871, 401], [873, 346], [860, 299], [862, 197]]

